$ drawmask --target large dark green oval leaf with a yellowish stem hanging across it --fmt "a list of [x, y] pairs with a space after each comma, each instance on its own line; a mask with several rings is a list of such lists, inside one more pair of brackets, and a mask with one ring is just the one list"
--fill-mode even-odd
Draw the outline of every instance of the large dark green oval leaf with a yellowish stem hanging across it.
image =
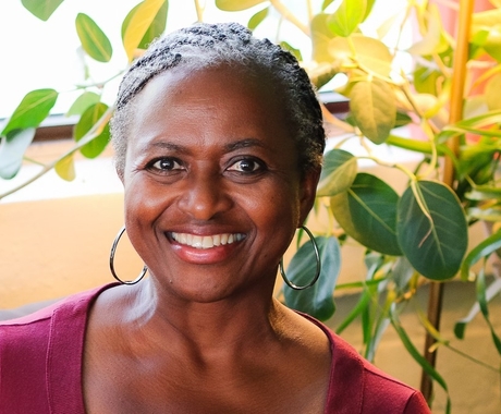
[[423, 276], [432, 280], [454, 277], [468, 244], [457, 196], [439, 182], [412, 182], [398, 205], [396, 236], [402, 252]]

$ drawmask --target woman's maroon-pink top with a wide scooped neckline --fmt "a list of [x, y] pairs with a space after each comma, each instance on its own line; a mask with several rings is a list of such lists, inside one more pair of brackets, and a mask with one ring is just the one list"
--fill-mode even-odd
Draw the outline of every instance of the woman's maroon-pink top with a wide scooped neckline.
[[[113, 284], [0, 324], [0, 414], [85, 414], [82, 357], [93, 301]], [[318, 320], [331, 343], [326, 414], [430, 413], [423, 395], [362, 358]]]

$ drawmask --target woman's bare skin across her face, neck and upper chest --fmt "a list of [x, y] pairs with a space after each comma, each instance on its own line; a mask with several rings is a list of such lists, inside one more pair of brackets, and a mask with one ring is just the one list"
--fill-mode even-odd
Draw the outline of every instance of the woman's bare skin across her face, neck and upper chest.
[[[127, 235], [150, 277], [105, 291], [84, 356], [88, 413], [321, 413], [323, 332], [272, 299], [311, 208], [280, 96], [266, 74], [176, 68], [136, 97]], [[200, 249], [173, 233], [242, 240]]]

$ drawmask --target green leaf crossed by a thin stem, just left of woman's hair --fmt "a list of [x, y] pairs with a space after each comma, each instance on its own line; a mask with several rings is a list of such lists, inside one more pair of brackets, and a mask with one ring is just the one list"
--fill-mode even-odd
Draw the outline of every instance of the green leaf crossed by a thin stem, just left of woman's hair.
[[[82, 114], [78, 123], [75, 125], [74, 137], [76, 142], [81, 141], [91, 130], [107, 109], [108, 106], [102, 102], [95, 104], [87, 108], [87, 110]], [[109, 141], [110, 126], [109, 123], [107, 123], [102, 131], [99, 132], [94, 139], [81, 148], [81, 153], [87, 158], [96, 158], [105, 150]]]

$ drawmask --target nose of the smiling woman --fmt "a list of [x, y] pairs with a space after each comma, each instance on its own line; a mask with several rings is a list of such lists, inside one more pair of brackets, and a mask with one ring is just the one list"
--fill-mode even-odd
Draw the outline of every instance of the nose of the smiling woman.
[[219, 176], [192, 175], [186, 180], [179, 207], [194, 219], [209, 220], [231, 208], [231, 197]]

